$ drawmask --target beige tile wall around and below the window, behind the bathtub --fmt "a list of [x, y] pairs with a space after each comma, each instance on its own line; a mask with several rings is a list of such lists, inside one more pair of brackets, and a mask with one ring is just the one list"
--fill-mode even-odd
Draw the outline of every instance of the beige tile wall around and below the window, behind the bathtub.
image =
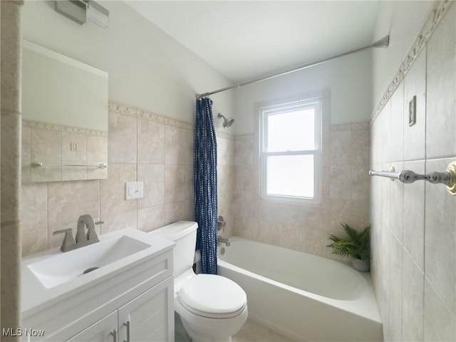
[[348, 260], [331, 254], [328, 234], [343, 233], [341, 222], [369, 224], [368, 123], [329, 125], [323, 114], [323, 194], [321, 204], [269, 202], [259, 197], [254, 135], [234, 141], [233, 234], [267, 244]]

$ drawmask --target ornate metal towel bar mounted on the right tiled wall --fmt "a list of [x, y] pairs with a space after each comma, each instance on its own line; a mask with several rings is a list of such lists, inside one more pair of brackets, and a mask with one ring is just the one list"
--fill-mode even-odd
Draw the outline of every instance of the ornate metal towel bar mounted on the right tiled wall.
[[445, 184], [451, 195], [456, 195], [456, 162], [450, 162], [445, 172], [430, 172], [420, 175], [410, 170], [395, 172], [394, 167], [388, 171], [369, 171], [370, 176], [388, 177], [390, 180], [400, 180], [403, 183], [413, 183], [415, 180], [425, 180], [432, 184]]

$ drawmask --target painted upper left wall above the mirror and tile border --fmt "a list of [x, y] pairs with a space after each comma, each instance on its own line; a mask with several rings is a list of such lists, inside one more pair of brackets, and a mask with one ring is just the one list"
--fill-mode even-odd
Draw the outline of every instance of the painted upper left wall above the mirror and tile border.
[[[109, 73], [109, 97], [152, 113], [193, 122], [195, 93], [229, 82], [194, 53], [123, 1], [100, 1], [107, 30], [83, 26], [53, 9], [53, 1], [25, 1], [23, 37]], [[230, 115], [231, 95], [214, 95], [214, 111]]]

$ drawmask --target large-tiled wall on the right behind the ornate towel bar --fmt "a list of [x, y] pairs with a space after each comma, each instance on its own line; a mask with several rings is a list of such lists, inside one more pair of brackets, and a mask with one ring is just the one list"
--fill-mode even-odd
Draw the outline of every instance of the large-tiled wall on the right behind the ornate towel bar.
[[[453, 5], [373, 120], [373, 169], [442, 172], [456, 160], [455, 37]], [[385, 341], [456, 341], [456, 196], [445, 185], [373, 177], [371, 219]]]

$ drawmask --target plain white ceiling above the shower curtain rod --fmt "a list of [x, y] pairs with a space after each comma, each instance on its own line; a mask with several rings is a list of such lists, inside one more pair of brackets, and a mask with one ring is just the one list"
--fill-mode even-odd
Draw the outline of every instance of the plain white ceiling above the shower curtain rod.
[[234, 83], [371, 44], [378, 1], [127, 1]]

